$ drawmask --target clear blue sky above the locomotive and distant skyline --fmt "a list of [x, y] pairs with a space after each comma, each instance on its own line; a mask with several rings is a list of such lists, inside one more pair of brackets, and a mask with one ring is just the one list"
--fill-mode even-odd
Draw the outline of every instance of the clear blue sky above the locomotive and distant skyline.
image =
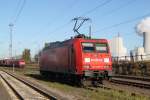
[[63, 41], [76, 35], [72, 29], [75, 17], [90, 18], [81, 33], [93, 38], [111, 40], [119, 35], [125, 47], [132, 50], [142, 46], [136, 25], [150, 16], [150, 0], [0, 0], [0, 58], [9, 57], [12, 23], [13, 56], [25, 48], [32, 57], [45, 42]]

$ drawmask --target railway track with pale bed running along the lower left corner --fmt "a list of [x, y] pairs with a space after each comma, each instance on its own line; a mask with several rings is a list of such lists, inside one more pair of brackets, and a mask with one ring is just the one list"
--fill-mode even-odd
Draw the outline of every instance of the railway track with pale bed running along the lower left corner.
[[[42, 89], [26, 82], [23, 79], [17, 78], [16, 76], [0, 71], [1, 81], [4, 86], [8, 89], [8, 92], [12, 99], [18, 100], [57, 100], [55, 96], [52, 96]], [[10, 90], [10, 91], [9, 91]]]

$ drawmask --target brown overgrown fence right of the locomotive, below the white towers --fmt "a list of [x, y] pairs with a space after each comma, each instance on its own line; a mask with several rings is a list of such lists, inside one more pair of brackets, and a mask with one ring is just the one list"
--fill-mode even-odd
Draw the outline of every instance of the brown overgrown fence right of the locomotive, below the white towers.
[[150, 54], [112, 57], [114, 74], [150, 75]]

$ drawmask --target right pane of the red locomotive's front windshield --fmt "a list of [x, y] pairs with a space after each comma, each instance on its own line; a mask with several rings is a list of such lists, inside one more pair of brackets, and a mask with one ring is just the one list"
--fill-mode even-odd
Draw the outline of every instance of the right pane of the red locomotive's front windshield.
[[96, 43], [95, 49], [96, 49], [96, 52], [99, 52], [99, 53], [108, 53], [108, 47], [106, 43]]

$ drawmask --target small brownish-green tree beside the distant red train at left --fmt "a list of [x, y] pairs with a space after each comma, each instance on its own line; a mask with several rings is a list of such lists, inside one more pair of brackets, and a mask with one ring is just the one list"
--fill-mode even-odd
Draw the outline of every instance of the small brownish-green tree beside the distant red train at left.
[[24, 49], [22, 58], [26, 63], [31, 63], [31, 54], [30, 54], [30, 49]]

